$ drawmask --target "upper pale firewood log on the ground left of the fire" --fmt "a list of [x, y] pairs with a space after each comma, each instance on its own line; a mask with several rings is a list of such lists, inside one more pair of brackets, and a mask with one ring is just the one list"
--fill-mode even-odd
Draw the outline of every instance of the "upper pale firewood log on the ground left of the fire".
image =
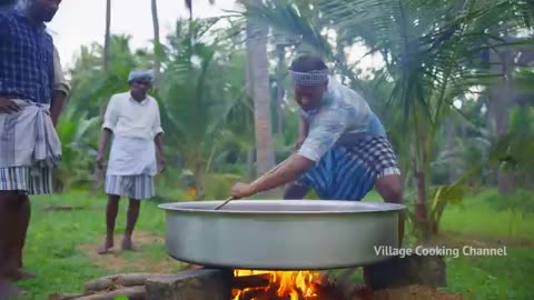
[[168, 273], [126, 273], [126, 274], [113, 274], [98, 279], [90, 280], [86, 282], [86, 291], [105, 291], [105, 290], [115, 290], [121, 287], [136, 287], [145, 286], [145, 281], [148, 278], [156, 277], [171, 277], [175, 274]]

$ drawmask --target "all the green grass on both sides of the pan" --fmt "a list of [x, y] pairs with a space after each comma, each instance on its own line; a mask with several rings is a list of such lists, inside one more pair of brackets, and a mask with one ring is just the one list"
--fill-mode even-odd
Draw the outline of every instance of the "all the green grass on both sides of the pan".
[[[379, 201], [370, 193], [366, 201]], [[82, 206], [75, 211], [43, 211], [50, 204]], [[127, 201], [121, 201], [117, 220], [118, 234], [125, 228]], [[29, 294], [23, 300], [47, 299], [55, 292], [78, 292], [87, 280], [125, 271], [138, 271], [137, 266], [108, 266], [103, 269], [93, 256], [79, 249], [80, 244], [96, 247], [105, 232], [106, 197], [86, 192], [70, 192], [32, 199], [32, 220], [24, 249], [24, 266], [37, 273], [38, 279], [19, 283]], [[483, 197], [465, 199], [463, 207], [449, 206], [443, 217], [443, 230], [469, 239], [503, 239], [508, 237], [508, 212], [496, 212]], [[165, 214], [154, 202], [144, 202], [137, 230], [159, 236], [165, 230]], [[533, 237], [534, 218], [528, 216], [514, 222], [512, 238]], [[466, 234], [467, 233], [467, 234]], [[448, 234], [451, 237], [452, 233]], [[504, 239], [504, 244], [506, 240]], [[93, 251], [91, 249], [91, 251]], [[507, 257], [447, 258], [445, 290], [461, 293], [466, 299], [533, 299], [531, 296], [534, 251], [528, 248], [508, 247]], [[149, 243], [138, 253], [120, 253], [129, 262], [154, 264], [170, 263], [164, 244]], [[179, 270], [177, 264], [176, 270]], [[359, 276], [358, 276], [359, 277]]]

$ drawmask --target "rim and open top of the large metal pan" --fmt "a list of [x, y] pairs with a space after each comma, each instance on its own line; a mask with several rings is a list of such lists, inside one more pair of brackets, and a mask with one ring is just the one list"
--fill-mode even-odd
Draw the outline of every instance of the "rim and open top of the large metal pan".
[[217, 214], [344, 214], [395, 212], [406, 209], [404, 204], [388, 202], [356, 202], [339, 200], [234, 200], [220, 210], [215, 208], [224, 201], [172, 202], [159, 204], [160, 209], [190, 213]]

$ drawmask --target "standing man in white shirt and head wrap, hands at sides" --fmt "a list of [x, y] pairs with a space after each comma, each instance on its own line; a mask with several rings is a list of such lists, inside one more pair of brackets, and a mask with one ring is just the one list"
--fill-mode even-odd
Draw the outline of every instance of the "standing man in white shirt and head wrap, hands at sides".
[[109, 138], [113, 137], [106, 170], [107, 236], [98, 251], [100, 254], [107, 253], [113, 247], [115, 221], [120, 197], [130, 199], [121, 248], [135, 250], [131, 234], [139, 216], [140, 200], [155, 194], [154, 177], [158, 172], [157, 160], [161, 172], [166, 166], [159, 106], [147, 94], [152, 82], [151, 72], [132, 71], [128, 82], [130, 91], [113, 94], [109, 101], [98, 147], [97, 163], [103, 169], [105, 149]]

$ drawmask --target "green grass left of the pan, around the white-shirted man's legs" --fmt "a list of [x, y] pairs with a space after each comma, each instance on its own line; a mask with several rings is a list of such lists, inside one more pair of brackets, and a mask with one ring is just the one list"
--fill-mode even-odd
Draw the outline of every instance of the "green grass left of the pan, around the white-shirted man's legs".
[[[123, 232], [127, 201], [120, 202], [117, 218], [117, 234]], [[82, 206], [75, 211], [43, 211], [50, 204]], [[32, 219], [24, 248], [24, 267], [37, 273], [37, 280], [19, 286], [29, 292], [23, 299], [41, 300], [55, 292], [78, 292], [92, 278], [115, 272], [135, 271], [129, 268], [103, 270], [79, 249], [80, 244], [92, 248], [102, 240], [106, 197], [83, 192], [32, 198]], [[141, 204], [138, 230], [162, 233], [164, 213], [154, 202]], [[92, 250], [92, 249], [91, 249]], [[144, 247], [141, 253], [123, 253], [127, 260], [158, 262], [167, 259], [162, 243]]]

